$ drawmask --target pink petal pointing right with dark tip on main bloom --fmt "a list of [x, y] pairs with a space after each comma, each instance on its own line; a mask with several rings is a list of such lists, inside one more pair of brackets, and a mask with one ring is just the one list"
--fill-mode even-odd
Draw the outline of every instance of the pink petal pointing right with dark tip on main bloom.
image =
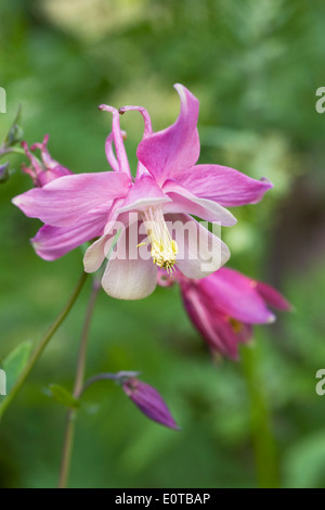
[[224, 207], [255, 204], [273, 188], [264, 177], [256, 180], [234, 168], [219, 165], [196, 165], [180, 175], [178, 181], [197, 196], [216, 201]]

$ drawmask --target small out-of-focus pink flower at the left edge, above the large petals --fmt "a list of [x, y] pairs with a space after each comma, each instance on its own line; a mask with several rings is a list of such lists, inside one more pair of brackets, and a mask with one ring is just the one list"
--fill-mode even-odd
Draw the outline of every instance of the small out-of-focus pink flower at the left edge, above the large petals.
[[[26, 153], [26, 156], [31, 163], [31, 166], [29, 167], [23, 165], [23, 171], [31, 177], [34, 184], [37, 188], [42, 188], [52, 180], [73, 174], [68, 168], [65, 168], [55, 160], [53, 160], [49, 153], [49, 135], [46, 135], [42, 143], [34, 143], [34, 145], [30, 146], [30, 150], [28, 149], [26, 142], [22, 142], [22, 146]], [[32, 154], [32, 151], [36, 151], [37, 149], [39, 149], [41, 152], [41, 162]]]

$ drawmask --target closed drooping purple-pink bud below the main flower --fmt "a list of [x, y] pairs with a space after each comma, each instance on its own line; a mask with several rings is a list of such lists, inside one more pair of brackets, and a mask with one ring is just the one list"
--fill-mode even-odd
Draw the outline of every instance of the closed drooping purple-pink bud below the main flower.
[[179, 430], [165, 400], [153, 386], [135, 378], [127, 378], [122, 388], [135, 406], [151, 420], [169, 429]]

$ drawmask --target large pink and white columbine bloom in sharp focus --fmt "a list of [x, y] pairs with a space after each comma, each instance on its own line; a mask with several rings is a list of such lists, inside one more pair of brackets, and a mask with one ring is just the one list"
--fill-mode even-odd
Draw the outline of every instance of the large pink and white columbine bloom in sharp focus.
[[[170, 272], [177, 265], [185, 277], [195, 279], [216, 271], [229, 259], [229, 250], [193, 216], [232, 226], [236, 220], [224, 207], [256, 203], [272, 188], [266, 179], [258, 181], [233, 168], [196, 165], [198, 100], [182, 85], [176, 85], [176, 89], [181, 100], [179, 117], [158, 132], [153, 132], [151, 118], [140, 106], [125, 106], [119, 112], [100, 106], [113, 113], [105, 149], [114, 171], [62, 177], [13, 200], [27, 216], [46, 224], [32, 243], [47, 260], [100, 238], [86, 253], [84, 270], [96, 271], [109, 256], [102, 285], [113, 297], [136, 299], [150, 295], [156, 286], [158, 267]], [[119, 114], [130, 110], [139, 111], [144, 118], [135, 179], [119, 125]], [[177, 239], [173, 225], [190, 226], [192, 234]], [[134, 226], [139, 235], [130, 242]], [[120, 235], [112, 256], [117, 230]], [[206, 239], [200, 250], [198, 238]], [[207, 269], [203, 263], [210, 255]]]

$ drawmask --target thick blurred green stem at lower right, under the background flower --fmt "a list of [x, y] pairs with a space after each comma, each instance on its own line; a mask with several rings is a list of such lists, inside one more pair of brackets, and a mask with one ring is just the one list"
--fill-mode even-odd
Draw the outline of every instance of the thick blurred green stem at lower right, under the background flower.
[[263, 391], [263, 381], [258, 370], [258, 343], [255, 347], [244, 347], [242, 356], [250, 399], [251, 434], [258, 483], [261, 488], [278, 488], [280, 473], [276, 444], [272, 431], [268, 399]]

